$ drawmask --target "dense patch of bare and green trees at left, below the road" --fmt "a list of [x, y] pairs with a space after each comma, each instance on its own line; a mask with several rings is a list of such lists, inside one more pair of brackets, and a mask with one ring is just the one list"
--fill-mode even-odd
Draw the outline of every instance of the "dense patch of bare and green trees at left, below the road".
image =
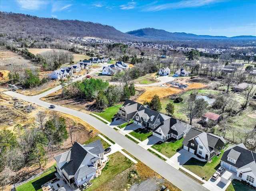
[[38, 113], [36, 120], [43, 126], [38, 128], [34, 124], [28, 128], [17, 124], [13, 132], [0, 130], [2, 183], [10, 183], [10, 177], [22, 167], [46, 165], [47, 154], [59, 149], [68, 138], [65, 118], [52, 113], [52, 118], [46, 121], [46, 114]]

